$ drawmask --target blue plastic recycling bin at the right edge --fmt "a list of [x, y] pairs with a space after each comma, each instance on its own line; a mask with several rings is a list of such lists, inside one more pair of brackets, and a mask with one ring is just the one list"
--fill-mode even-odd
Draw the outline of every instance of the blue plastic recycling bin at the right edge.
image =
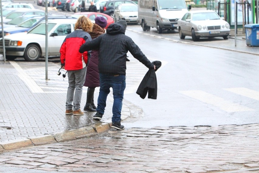
[[247, 46], [259, 46], [259, 24], [247, 24], [245, 30]]

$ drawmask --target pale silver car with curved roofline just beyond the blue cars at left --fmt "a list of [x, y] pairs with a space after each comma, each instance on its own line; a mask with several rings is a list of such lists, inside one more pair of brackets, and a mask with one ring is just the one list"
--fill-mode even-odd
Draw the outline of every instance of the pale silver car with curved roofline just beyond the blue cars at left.
[[[24, 15], [39, 15], [39, 16], [44, 16], [45, 11], [43, 10], [38, 10], [38, 9], [28, 9], [28, 8], [22, 8], [22, 9], [17, 9], [11, 13], [9, 13], [5, 19], [3, 19], [3, 23], [7, 23], [10, 20], [18, 17], [18, 16], [24, 16]], [[49, 13], [49, 15], [51, 15]]]

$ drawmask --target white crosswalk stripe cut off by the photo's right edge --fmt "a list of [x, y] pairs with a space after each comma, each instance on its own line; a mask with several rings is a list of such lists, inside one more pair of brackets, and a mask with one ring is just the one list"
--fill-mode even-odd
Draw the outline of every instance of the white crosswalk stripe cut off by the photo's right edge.
[[239, 94], [241, 96], [249, 97], [255, 100], [259, 100], [259, 92], [250, 90], [248, 88], [225, 88], [224, 90], [230, 91], [232, 93]]

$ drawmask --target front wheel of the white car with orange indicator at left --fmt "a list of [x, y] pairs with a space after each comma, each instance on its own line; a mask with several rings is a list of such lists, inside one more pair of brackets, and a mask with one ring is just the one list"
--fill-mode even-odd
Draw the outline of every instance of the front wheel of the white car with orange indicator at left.
[[36, 44], [29, 44], [24, 52], [26, 61], [37, 61], [40, 58], [40, 48]]

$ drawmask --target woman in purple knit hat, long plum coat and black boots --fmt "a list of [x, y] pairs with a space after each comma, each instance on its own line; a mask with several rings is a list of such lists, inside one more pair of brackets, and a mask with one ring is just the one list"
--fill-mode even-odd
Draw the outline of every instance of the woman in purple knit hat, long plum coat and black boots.
[[[107, 20], [104, 17], [96, 17], [93, 31], [89, 33], [92, 37], [92, 40], [99, 35], [105, 34], [104, 28], [106, 26]], [[98, 71], [98, 49], [91, 51], [91, 59], [86, 69], [84, 86], [88, 86], [84, 111], [96, 111], [96, 106], [94, 104], [94, 92], [95, 87], [100, 86]]]

